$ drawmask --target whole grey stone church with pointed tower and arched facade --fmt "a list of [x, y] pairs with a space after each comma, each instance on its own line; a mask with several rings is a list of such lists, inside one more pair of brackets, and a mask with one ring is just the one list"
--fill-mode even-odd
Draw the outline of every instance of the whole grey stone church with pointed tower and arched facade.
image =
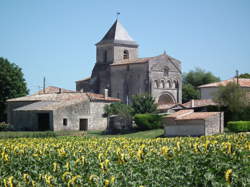
[[103, 94], [131, 103], [136, 94], [150, 94], [159, 105], [182, 102], [181, 62], [167, 55], [138, 57], [139, 45], [116, 20], [96, 44], [91, 77], [76, 81], [76, 90]]

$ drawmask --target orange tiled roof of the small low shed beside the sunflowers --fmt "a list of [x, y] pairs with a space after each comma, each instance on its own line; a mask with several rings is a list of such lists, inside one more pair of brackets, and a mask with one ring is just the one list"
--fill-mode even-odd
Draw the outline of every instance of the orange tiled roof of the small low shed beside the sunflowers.
[[204, 120], [220, 112], [194, 112], [194, 110], [180, 110], [168, 115], [166, 118], [174, 118], [175, 120]]

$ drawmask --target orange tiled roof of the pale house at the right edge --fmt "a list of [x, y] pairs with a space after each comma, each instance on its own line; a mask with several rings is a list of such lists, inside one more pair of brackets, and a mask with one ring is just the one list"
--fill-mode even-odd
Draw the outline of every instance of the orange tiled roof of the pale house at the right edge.
[[[204, 85], [199, 86], [198, 88], [211, 88], [211, 87], [226, 86], [229, 82], [237, 83], [237, 78], [232, 78], [232, 79], [224, 80], [224, 81], [220, 81], [220, 82], [204, 84]], [[250, 79], [239, 78], [239, 85], [241, 87], [249, 87], [250, 88]]]

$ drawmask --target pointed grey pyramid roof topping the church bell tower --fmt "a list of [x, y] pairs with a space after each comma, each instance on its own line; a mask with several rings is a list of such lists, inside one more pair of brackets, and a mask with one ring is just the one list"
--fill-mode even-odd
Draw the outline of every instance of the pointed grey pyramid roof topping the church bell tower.
[[122, 24], [116, 20], [109, 31], [105, 34], [98, 44], [104, 43], [117, 43], [117, 44], [127, 44], [127, 45], [137, 45], [136, 42], [129, 36], [126, 29], [122, 26]]

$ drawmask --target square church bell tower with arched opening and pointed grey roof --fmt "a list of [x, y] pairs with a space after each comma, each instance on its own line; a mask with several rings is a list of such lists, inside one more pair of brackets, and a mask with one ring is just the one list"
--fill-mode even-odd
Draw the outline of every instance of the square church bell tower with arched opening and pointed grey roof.
[[116, 20], [100, 42], [96, 44], [96, 63], [113, 64], [138, 58], [138, 44]]

